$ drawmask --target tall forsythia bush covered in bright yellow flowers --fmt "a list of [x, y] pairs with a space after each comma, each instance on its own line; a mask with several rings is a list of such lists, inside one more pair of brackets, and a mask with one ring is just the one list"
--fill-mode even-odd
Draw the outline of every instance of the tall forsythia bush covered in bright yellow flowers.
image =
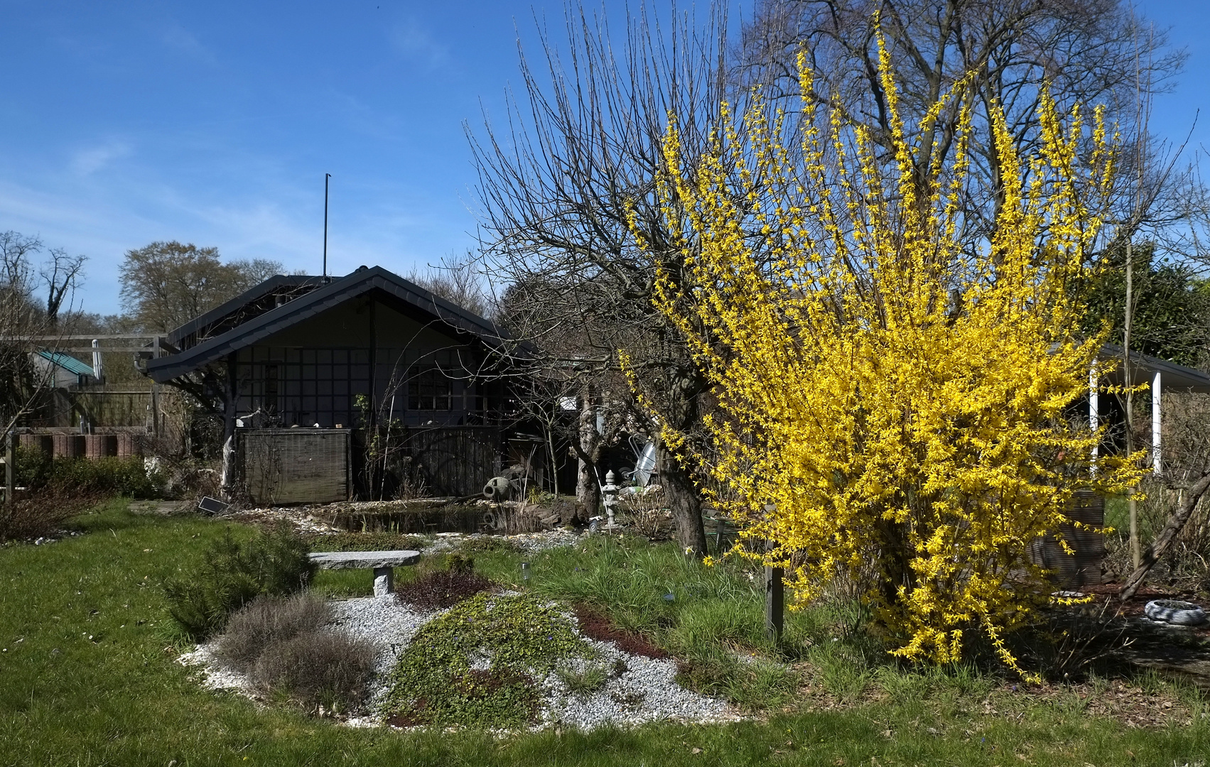
[[681, 266], [661, 272], [657, 305], [715, 387], [714, 450], [696, 457], [743, 536], [776, 542], [748, 555], [786, 567], [800, 604], [872, 567], [865, 599], [892, 652], [956, 661], [975, 629], [1016, 668], [1003, 635], [1053, 590], [1028, 544], [1068, 521], [1076, 490], [1139, 477], [1125, 459], [1093, 467], [1076, 405], [1104, 339], [1077, 335], [1066, 289], [1088, 269], [1113, 151], [1099, 111], [1085, 126], [1045, 93], [1036, 157], [996, 116], [1003, 197], [991, 235], [963, 242], [962, 85], [926, 117], [963, 110], [955, 152], [921, 178], [886, 54], [882, 69], [892, 161], [839, 111], [816, 114], [802, 60], [801, 152], [759, 93], [693, 167], [673, 121], [658, 194]]

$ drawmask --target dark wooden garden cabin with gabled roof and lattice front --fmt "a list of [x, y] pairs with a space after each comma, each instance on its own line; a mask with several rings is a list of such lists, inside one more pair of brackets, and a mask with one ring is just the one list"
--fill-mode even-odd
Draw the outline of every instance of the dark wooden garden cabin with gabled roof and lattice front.
[[[169, 333], [145, 373], [215, 403], [225, 474], [253, 502], [376, 495], [388, 460], [430, 492], [469, 495], [500, 468], [525, 351], [492, 322], [363, 266], [271, 277]], [[367, 463], [380, 459], [382, 472]]]

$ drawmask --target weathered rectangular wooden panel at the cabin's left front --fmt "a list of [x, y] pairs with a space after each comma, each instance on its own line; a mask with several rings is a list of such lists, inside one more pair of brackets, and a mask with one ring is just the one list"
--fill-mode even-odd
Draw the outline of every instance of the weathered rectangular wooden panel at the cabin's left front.
[[348, 500], [348, 429], [242, 428], [241, 475], [253, 503]]

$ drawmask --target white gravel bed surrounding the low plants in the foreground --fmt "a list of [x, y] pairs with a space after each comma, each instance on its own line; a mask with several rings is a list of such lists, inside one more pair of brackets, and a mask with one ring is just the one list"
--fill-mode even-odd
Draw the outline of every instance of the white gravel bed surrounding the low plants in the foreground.
[[[393, 594], [333, 600], [333, 628], [379, 646], [368, 711], [376, 711], [388, 692], [386, 680], [399, 654], [428, 621], [445, 612], [421, 612], [397, 601]], [[572, 618], [574, 621], [575, 618]], [[604, 667], [609, 676], [592, 692], [574, 693], [554, 671], [538, 680], [543, 693], [538, 727], [564, 726], [593, 729], [605, 725], [635, 726], [673, 720], [681, 722], [737, 721], [739, 715], [725, 702], [697, 694], [676, 684], [676, 664], [670, 659], [652, 659], [620, 650], [613, 642], [588, 641], [598, 653], [589, 661], [566, 661], [563, 668], [583, 673], [588, 665]], [[223, 667], [214, 657], [213, 644], [198, 645], [180, 658], [180, 663], [200, 667], [200, 682], [209, 690], [231, 690], [255, 698], [248, 679]], [[381, 725], [376, 714], [347, 719], [352, 727]]]

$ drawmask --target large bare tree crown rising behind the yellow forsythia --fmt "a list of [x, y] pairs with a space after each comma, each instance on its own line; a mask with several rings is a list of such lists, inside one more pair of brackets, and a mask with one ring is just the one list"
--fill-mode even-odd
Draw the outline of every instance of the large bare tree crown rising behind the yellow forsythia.
[[761, 0], [744, 28], [737, 71], [773, 98], [797, 97], [796, 57], [805, 52], [819, 80], [813, 98], [866, 128], [893, 160], [880, 31], [897, 75], [898, 114], [923, 148], [911, 160], [918, 179], [933, 163], [953, 160], [962, 119], [961, 99], [935, 120], [924, 120], [927, 110], [961, 81], [974, 94], [972, 237], [990, 231], [1002, 203], [995, 149], [980, 139], [990, 135], [983, 128], [995, 108], [1025, 154], [1038, 148], [1047, 85], [1068, 106], [1102, 104], [1111, 123], [1130, 133], [1139, 86], [1147, 96], [1168, 88], [1185, 60], [1183, 51], [1166, 47], [1163, 31], [1119, 0]]

